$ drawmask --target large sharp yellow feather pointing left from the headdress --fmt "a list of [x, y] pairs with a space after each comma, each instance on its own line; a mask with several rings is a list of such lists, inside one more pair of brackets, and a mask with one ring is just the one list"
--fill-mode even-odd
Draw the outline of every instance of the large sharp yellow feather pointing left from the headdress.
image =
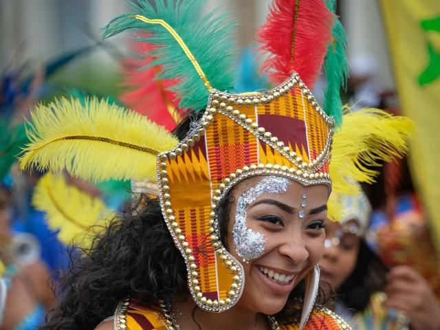
[[145, 116], [106, 100], [61, 98], [32, 111], [21, 168], [64, 168], [87, 181], [155, 179], [156, 156], [177, 138]]

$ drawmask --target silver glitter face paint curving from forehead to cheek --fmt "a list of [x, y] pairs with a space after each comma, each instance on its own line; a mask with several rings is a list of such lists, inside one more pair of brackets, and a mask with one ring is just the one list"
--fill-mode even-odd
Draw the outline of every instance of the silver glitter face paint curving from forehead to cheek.
[[246, 207], [264, 193], [279, 194], [280, 192], [285, 192], [289, 186], [290, 181], [285, 177], [263, 177], [258, 184], [243, 192], [239, 197], [236, 203], [232, 238], [234, 239], [236, 253], [241, 256], [244, 262], [249, 262], [262, 256], [267, 241], [261, 232], [254, 232], [254, 230], [246, 225]]

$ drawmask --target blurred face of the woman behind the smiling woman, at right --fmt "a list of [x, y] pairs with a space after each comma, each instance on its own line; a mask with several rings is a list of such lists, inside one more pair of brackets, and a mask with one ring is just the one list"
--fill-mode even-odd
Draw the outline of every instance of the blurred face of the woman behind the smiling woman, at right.
[[360, 237], [347, 230], [354, 223], [347, 221], [341, 225], [327, 221], [325, 226], [326, 244], [319, 262], [321, 278], [335, 290], [351, 275], [358, 261]]

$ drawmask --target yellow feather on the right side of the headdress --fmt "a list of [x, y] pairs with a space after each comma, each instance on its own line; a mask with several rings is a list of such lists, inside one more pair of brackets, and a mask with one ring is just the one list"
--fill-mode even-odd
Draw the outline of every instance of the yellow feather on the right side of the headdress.
[[340, 206], [334, 195], [355, 195], [359, 188], [353, 181], [373, 183], [378, 174], [373, 167], [404, 155], [414, 129], [409, 118], [379, 109], [344, 115], [331, 152], [329, 173], [333, 184], [327, 204], [330, 219], [340, 218]]

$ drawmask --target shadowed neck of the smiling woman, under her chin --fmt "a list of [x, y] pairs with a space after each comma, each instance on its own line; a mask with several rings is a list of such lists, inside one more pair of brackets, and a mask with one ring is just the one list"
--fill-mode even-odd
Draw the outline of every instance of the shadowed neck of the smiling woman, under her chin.
[[266, 317], [259, 316], [255, 311], [239, 306], [234, 306], [232, 309], [221, 313], [210, 313], [196, 307], [194, 301], [188, 298], [185, 302], [175, 303], [171, 308], [181, 330], [199, 329], [199, 327], [202, 330], [270, 329]]

